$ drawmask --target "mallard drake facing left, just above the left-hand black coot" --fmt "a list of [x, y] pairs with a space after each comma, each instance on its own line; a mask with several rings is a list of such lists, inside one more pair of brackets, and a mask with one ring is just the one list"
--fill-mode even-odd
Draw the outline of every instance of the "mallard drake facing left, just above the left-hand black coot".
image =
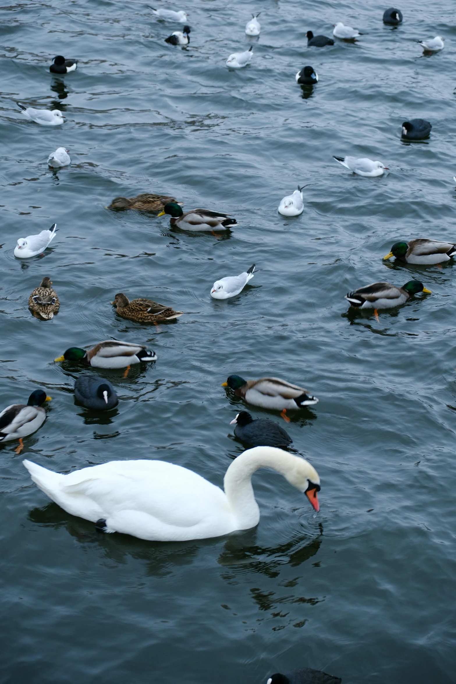
[[62, 356], [57, 356], [54, 360], [57, 362], [79, 361], [85, 366], [94, 368], [126, 368], [128, 371], [135, 363], [156, 361], [157, 354], [142, 344], [108, 340], [100, 342], [87, 351], [80, 347], [70, 347]]

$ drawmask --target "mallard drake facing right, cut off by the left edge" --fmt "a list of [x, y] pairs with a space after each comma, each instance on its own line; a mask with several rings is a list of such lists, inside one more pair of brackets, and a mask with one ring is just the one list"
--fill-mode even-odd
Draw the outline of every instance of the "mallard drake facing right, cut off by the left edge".
[[44, 402], [50, 402], [42, 389], [36, 389], [29, 396], [27, 405], [11, 404], [0, 413], [0, 443], [19, 440], [19, 446], [14, 449], [21, 453], [24, 448], [23, 437], [36, 432], [46, 419], [46, 411], [42, 408]]

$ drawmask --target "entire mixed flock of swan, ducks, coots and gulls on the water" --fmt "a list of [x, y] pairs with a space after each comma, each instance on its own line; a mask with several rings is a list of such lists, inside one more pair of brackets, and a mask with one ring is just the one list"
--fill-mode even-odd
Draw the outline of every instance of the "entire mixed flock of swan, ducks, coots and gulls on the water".
[[[150, 8], [161, 21], [183, 23], [183, 31], [173, 31], [165, 38], [172, 45], [187, 46], [191, 28], [187, 25], [187, 12]], [[247, 36], [259, 36], [258, 14], [245, 25]], [[403, 21], [400, 10], [388, 8], [383, 21], [387, 25], [399, 25]], [[358, 29], [341, 22], [334, 25], [334, 38], [356, 41], [362, 34]], [[327, 36], [307, 34], [308, 47], [326, 47], [334, 44]], [[436, 36], [432, 40], [418, 41], [427, 52], [444, 48], [444, 39]], [[253, 49], [229, 55], [229, 68], [243, 68], [252, 61]], [[77, 60], [66, 60], [57, 55], [50, 66], [51, 73], [65, 75], [77, 68]], [[319, 81], [312, 66], [304, 66], [296, 74], [301, 86], [313, 87]], [[55, 109], [34, 109], [17, 103], [23, 115], [43, 126], [59, 126], [64, 123], [61, 111]], [[431, 124], [423, 119], [403, 122], [401, 135], [404, 140], [424, 140], [431, 133]], [[49, 155], [52, 168], [62, 168], [71, 163], [64, 147]], [[334, 157], [345, 168], [360, 176], [375, 177], [388, 170], [381, 161], [358, 159], [356, 157]], [[456, 178], [455, 178], [456, 180]], [[304, 210], [302, 187], [280, 202], [278, 211], [284, 216], [297, 216]], [[234, 218], [209, 209], [192, 209], [184, 212], [181, 202], [170, 196], [142, 194], [133, 198], [117, 197], [107, 207], [112, 211], [133, 209], [148, 211], [159, 216], [169, 215], [170, 225], [183, 231], [226, 231], [236, 225]], [[29, 259], [41, 254], [56, 235], [56, 224], [38, 235], [20, 238], [14, 248], [18, 259]], [[384, 259], [395, 257], [412, 264], [439, 264], [456, 254], [456, 244], [431, 239], [399, 241]], [[223, 300], [239, 295], [247, 282], [254, 277], [255, 265], [239, 276], [228, 276], [216, 280], [211, 288], [212, 298]], [[29, 296], [29, 308], [33, 315], [46, 321], [59, 311], [59, 298], [49, 277]], [[404, 304], [416, 293], [430, 291], [422, 282], [410, 280], [403, 287], [388, 282], [375, 282], [361, 287], [346, 296], [349, 305], [356, 308], [374, 309], [378, 319], [379, 309]], [[175, 322], [183, 315], [148, 299], [129, 301], [124, 293], [116, 294], [111, 302], [116, 313], [125, 319], [141, 324]], [[116, 340], [104, 341], [89, 350], [70, 347], [55, 362], [77, 363], [85, 367], [102, 369], [124, 369], [124, 376], [133, 364], [157, 360], [157, 354], [142, 344]], [[280, 378], [244, 380], [232, 375], [223, 383], [245, 404], [276, 410], [285, 421], [286, 412], [299, 410], [304, 406], [317, 404], [318, 399], [303, 387]], [[109, 410], [116, 406], [118, 397], [113, 385], [103, 378], [84, 375], [75, 381], [77, 402], [93, 410]], [[46, 419], [44, 404], [51, 400], [42, 390], [31, 393], [27, 405], [14, 404], [0, 413], [0, 443], [19, 440], [16, 449], [21, 453], [23, 438], [36, 432]], [[284, 451], [291, 444], [287, 432], [269, 419], [252, 419], [250, 413], [241, 410], [232, 424], [234, 434], [250, 449], [241, 453], [228, 467], [224, 477], [224, 490], [211, 484], [189, 469], [160, 460], [123, 460], [90, 466], [68, 475], [44, 469], [36, 463], [24, 460], [31, 479], [53, 501], [68, 513], [95, 523], [100, 532], [122, 532], [145, 540], [179, 541], [210, 538], [229, 534], [235, 530], [249, 529], [258, 524], [260, 512], [250, 480], [254, 471], [269, 467], [281, 473], [298, 490], [304, 492], [315, 511], [319, 511], [317, 492], [320, 478], [313, 466], [300, 456]], [[279, 448], [280, 447], [280, 448]], [[273, 674], [267, 684], [338, 684], [338, 677], [304, 668], [285, 674]]]

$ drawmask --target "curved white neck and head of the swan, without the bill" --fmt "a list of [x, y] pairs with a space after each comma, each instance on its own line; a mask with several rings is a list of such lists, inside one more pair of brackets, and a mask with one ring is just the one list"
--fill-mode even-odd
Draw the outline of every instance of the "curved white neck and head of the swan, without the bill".
[[250, 529], [258, 525], [260, 510], [252, 488], [252, 475], [258, 468], [272, 468], [291, 484], [305, 491], [308, 477], [319, 483], [319, 476], [304, 458], [276, 447], [247, 449], [230, 464], [224, 477], [224, 489], [232, 513], [237, 518], [238, 529]]

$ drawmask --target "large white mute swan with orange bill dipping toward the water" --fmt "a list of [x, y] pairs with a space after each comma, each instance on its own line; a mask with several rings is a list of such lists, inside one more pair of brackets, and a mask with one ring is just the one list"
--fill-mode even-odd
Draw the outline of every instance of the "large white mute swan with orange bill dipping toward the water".
[[110, 461], [69, 475], [23, 461], [31, 479], [66, 512], [96, 523], [103, 532], [139, 539], [177, 542], [250, 529], [260, 510], [251, 478], [273, 468], [305, 492], [316, 511], [320, 478], [300, 456], [255, 447], [241, 453], [224, 477], [225, 491], [197, 473], [159, 460]]

